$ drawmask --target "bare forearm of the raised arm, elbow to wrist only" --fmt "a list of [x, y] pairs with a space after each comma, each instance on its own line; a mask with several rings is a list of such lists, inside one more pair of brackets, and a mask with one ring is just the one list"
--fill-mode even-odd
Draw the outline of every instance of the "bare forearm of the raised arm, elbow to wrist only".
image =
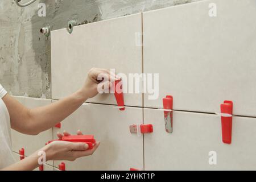
[[77, 110], [86, 100], [86, 95], [79, 90], [51, 105], [31, 109], [29, 118], [32, 132], [38, 134], [55, 126]]

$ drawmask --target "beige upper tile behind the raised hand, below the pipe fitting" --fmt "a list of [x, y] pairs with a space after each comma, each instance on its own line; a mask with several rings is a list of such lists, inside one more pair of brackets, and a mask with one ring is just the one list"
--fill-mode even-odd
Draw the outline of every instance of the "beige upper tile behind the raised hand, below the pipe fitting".
[[[79, 89], [93, 67], [141, 74], [142, 47], [136, 44], [141, 32], [141, 14], [77, 26], [72, 34], [65, 28], [52, 31], [52, 98], [60, 99]], [[113, 95], [98, 95], [89, 101], [115, 104]], [[142, 94], [126, 94], [125, 102], [142, 106]]]

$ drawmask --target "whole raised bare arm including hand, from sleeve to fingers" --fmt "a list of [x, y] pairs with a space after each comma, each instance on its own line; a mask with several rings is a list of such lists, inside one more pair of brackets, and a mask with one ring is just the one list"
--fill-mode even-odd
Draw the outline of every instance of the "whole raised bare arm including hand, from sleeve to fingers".
[[[102, 79], [98, 81], [98, 76], [102, 77], [102, 74], [106, 75], [104, 81]], [[106, 69], [90, 69], [85, 84], [76, 93], [51, 105], [36, 109], [28, 109], [6, 94], [3, 101], [10, 114], [11, 128], [28, 135], [36, 135], [50, 129], [72, 114], [88, 98], [96, 96], [98, 88], [110, 89], [111, 77]], [[115, 76], [114, 78], [117, 79]]]

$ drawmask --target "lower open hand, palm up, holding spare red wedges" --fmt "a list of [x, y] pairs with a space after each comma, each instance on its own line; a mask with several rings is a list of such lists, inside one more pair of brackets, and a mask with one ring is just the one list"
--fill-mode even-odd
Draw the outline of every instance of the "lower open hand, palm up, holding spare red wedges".
[[[63, 135], [68, 136], [70, 134], [64, 131]], [[60, 139], [63, 137], [63, 135], [60, 133], [57, 134]], [[77, 135], [82, 135], [80, 130], [77, 131]], [[88, 144], [85, 143], [55, 141], [47, 144], [43, 150], [46, 151], [47, 160], [74, 161], [82, 156], [92, 155], [99, 145], [100, 142], [97, 142], [92, 149], [88, 150]]]

